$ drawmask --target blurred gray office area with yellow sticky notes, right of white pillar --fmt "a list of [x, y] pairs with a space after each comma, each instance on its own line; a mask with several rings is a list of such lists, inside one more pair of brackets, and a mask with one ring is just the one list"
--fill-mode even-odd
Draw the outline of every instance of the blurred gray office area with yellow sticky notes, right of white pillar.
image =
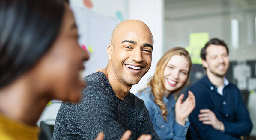
[[241, 90], [254, 125], [251, 135], [256, 135], [256, 1], [165, 0], [164, 7], [163, 51], [188, 48], [193, 62], [188, 84], [205, 75], [198, 59], [205, 40], [218, 37], [227, 43], [230, 68], [226, 77]]

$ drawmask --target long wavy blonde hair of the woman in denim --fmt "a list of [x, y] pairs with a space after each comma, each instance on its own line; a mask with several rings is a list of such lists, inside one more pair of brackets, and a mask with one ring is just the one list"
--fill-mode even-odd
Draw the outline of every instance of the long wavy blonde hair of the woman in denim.
[[163, 102], [164, 91], [166, 90], [166, 88], [164, 86], [164, 76], [163, 76], [163, 73], [164, 73], [164, 69], [165, 69], [168, 61], [174, 55], [185, 56], [185, 58], [189, 62], [189, 71], [188, 71], [188, 76], [187, 76], [187, 79], [186, 79], [185, 83], [180, 88], [178, 88], [177, 90], [174, 90], [174, 91], [171, 92], [172, 94], [175, 93], [176, 96], [177, 96], [177, 93], [179, 93], [180, 90], [186, 85], [186, 82], [187, 82], [188, 77], [189, 77], [190, 69], [191, 69], [191, 66], [192, 66], [189, 52], [186, 51], [182, 47], [171, 48], [170, 50], [168, 50], [161, 57], [161, 59], [158, 61], [157, 65], [156, 65], [155, 74], [152, 77], [150, 77], [150, 79], [149, 79], [149, 81], [147, 83], [147, 87], [151, 87], [151, 91], [152, 91], [152, 93], [153, 93], [153, 95], [155, 97], [154, 101], [155, 101], [156, 104], [159, 105], [159, 107], [161, 109], [161, 112], [162, 112], [161, 115], [163, 116], [165, 121], [167, 121], [167, 118], [166, 118], [167, 110], [166, 110], [166, 107], [165, 107], [165, 103]]

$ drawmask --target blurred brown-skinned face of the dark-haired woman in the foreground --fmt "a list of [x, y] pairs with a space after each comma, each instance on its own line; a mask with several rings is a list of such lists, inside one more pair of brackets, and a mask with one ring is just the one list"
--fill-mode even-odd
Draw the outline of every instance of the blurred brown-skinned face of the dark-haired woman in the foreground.
[[77, 102], [85, 86], [79, 73], [84, 70], [83, 61], [89, 55], [79, 47], [73, 13], [67, 4], [65, 8], [59, 35], [39, 61], [38, 74], [48, 85], [52, 99]]

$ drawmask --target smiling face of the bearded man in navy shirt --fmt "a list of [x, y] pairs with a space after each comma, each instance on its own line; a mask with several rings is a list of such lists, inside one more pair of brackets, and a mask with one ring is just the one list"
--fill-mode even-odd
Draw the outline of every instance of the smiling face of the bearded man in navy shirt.
[[211, 44], [206, 49], [206, 60], [203, 60], [203, 65], [213, 75], [218, 77], [225, 76], [229, 67], [227, 49], [222, 45]]

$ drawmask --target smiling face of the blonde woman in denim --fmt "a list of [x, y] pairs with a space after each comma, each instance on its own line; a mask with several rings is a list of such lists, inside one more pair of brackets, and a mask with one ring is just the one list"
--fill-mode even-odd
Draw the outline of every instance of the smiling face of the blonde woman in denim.
[[164, 69], [164, 85], [166, 90], [174, 91], [180, 88], [189, 74], [189, 62], [185, 56], [174, 55]]

